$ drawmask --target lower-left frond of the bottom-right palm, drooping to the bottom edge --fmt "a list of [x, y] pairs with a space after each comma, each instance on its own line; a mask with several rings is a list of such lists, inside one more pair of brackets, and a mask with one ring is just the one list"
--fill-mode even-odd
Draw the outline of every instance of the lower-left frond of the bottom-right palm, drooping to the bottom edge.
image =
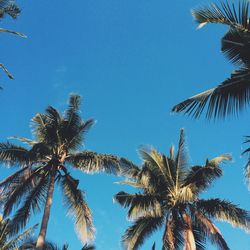
[[122, 242], [127, 250], [136, 250], [146, 237], [162, 226], [163, 217], [142, 217], [134, 222], [123, 235]]

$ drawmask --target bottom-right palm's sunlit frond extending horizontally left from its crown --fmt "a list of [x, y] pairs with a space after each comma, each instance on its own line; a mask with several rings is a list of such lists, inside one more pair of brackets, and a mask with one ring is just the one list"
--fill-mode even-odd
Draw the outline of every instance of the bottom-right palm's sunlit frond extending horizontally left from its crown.
[[114, 196], [114, 201], [123, 207], [129, 207], [128, 218], [131, 220], [139, 217], [161, 217], [162, 208], [159, 196], [150, 194], [129, 194], [119, 192]]

